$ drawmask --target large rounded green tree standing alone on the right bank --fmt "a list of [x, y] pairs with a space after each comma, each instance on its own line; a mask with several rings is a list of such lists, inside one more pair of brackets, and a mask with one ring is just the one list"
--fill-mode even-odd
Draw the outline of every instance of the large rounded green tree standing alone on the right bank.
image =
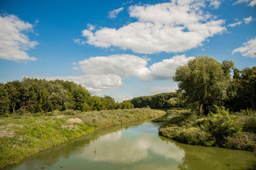
[[217, 62], [213, 57], [203, 56], [190, 60], [188, 64], [178, 67], [174, 81], [178, 81], [178, 89], [183, 92], [188, 102], [196, 103], [198, 115], [210, 106], [227, 98], [230, 86], [230, 69], [232, 61]]

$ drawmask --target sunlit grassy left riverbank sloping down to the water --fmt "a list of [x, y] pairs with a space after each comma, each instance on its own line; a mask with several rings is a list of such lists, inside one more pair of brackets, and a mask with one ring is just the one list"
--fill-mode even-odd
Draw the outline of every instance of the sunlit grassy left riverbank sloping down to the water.
[[37, 116], [0, 118], [0, 169], [94, 130], [158, 118], [165, 113], [149, 108], [137, 108], [87, 113], [57, 111]]

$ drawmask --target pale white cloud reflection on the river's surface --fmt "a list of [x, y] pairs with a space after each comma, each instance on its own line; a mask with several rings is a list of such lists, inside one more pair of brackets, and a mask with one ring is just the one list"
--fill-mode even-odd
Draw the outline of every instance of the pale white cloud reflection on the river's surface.
[[[94, 157], [90, 157], [96, 149]], [[157, 155], [165, 159], [174, 159], [181, 163], [185, 153], [174, 144], [166, 144], [154, 133], [141, 133], [134, 130], [120, 130], [101, 136], [83, 148], [78, 157], [95, 162], [134, 164], [149, 156]]]

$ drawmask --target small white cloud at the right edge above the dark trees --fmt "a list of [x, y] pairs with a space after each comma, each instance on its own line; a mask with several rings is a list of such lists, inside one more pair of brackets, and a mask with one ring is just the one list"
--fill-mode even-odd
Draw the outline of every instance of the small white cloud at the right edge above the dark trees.
[[256, 37], [243, 43], [242, 47], [233, 50], [232, 54], [240, 52], [242, 56], [256, 58]]

